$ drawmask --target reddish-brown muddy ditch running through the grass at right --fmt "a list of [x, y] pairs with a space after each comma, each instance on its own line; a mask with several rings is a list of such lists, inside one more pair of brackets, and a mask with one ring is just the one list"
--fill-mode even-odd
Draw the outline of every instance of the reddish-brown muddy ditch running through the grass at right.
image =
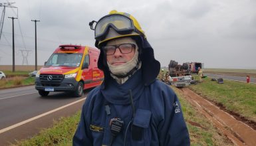
[[219, 109], [207, 100], [198, 96], [188, 88], [182, 88], [182, 92], [195, 108], [199, 109], [213, 124], [224, 133], [235, 145], [256, 145], [256, 131], [238, 121], [229, 113]]

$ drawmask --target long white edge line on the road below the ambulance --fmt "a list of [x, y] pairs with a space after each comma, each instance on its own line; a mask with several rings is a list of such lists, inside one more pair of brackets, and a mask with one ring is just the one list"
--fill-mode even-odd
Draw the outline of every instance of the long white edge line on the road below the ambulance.
[[46, 113], [42, 113], [41, 115], [37, 115], [37, 116], [32, 117], [32, 118], [30, 118], [30, 119], [26, 119], [25, 121], [21, 121], [20, 123], [16, 123], [15, 125], [11, 125], [11, 126], [9, 126], [9, 127], [6, 127], [6, 128], [4, 128], [4, 129], [1, 129], [1, 130], [0, 130], [0, 134], [1, 134], [1, 133], [4, 133], [5, 131], [9, 131], [9, 130], [15, 128], [15, 127], [19, 127], [20, 125], [23, 125], [23, 124], [25, 124], [25, 123], [29, 123], [30, 121], [34, 121], [35, 119], [39, 119], [40, 117], [43, 117], [43, 116], [45, 116], [45, 115], [49, 115], [49, 114], [51, 114], [51, 113], [53, 113], [53, 112], [55, 112], [55, 111], [59, 111], [59, 110], [61, 110], [61, 109], [63, 109], [63, 108], [66, 108], [66, 107], [68, 107], [68, 106], [72, 106], [73, 104], [76, 104], [76, 103], [78, 103], [78, 102], [81, 102], [82, 100], [85, 100], [85, 99], [86, 99], [86, 97], [85, 97], [85, 98], [82, 98], [82, 99], [80, 99], [80, 100], [76, 100], [75, 102], [71, 102], [70, 104], [66, 104], [66, 105], [64, 105], [64, 106], [61, 106], [60, 108], [56, 108], [56, 109], [53, 109], [53, 110], [51, 110], [51, 111], [47, 111]]

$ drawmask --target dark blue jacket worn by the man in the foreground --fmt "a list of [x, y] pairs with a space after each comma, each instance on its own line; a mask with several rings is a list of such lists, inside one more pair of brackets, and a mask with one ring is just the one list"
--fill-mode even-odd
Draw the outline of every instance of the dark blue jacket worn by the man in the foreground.
[[[110, 145], [111, 139], [112, 145], [124, 145], [124, 141], [126, 145], [190, 145], [176, 94], [158, 80], [144, 86], [141, 77], [139, 70], [122, 85], [112, 79], [106, 88], [94, 88], [82, 107], [73, 145]], [[110, 108], [108, 114], [106, 107]], [[110, 119], [114, 117], [124, 121], [116, 137], [110, 132]]]

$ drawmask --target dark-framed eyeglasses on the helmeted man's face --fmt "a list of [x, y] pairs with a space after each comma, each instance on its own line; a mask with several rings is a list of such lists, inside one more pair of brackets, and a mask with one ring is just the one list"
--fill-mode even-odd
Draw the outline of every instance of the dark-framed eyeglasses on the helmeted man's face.
[[116, 48], [119, 48], [122, 54], [128, 54], [132, 52], [132, 48], [136, 48], [135, 44], [126, 43], [126, 44], [118, 44], [118, 45], [110, 45], [110, 46], [103, 46], [103, 50], [106, 52], [107, 55], [112, 55], [116, 52]]

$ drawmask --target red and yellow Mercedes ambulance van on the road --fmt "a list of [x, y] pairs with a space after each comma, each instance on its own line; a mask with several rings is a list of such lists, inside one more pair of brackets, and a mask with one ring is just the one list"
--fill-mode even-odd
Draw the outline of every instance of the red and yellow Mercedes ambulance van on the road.
[[104, 74], [98, 69], [100, 51], [89, 46], [60, 45], [37, 72], [35, 89], [41, 96], [49, 92], [72, 92], [80, 97], [87, 88], [102, 83]]

